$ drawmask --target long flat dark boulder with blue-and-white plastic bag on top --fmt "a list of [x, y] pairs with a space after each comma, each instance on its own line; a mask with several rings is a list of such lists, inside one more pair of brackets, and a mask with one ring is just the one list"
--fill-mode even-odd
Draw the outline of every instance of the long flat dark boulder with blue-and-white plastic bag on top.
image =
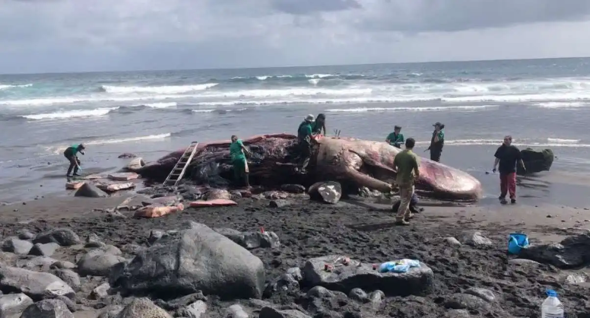
[[[434, 273], [426, 264], [412, 267], [406, 273], [379, 273], [372, 264], [350, 260], [348, 265], [341, 260], [345, 256], [332, 255], [307, 260], [303, 267], [304, 283], [307, 286], [323, 286], [330, 290], [349, 293], [355, 288], [367, 291], [382, 290], [388, 296], [422, 296], [430, 293]], [[332, 271], [324, 266], [330, 264]]]

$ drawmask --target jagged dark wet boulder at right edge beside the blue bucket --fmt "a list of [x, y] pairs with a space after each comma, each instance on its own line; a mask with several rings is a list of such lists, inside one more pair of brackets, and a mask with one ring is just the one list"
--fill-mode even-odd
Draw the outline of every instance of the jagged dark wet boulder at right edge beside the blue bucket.
[[566, 237], [560, 243], [529, 245], [520, 250], [519, 257], [561, 269], [590, 264], [590, 230]]

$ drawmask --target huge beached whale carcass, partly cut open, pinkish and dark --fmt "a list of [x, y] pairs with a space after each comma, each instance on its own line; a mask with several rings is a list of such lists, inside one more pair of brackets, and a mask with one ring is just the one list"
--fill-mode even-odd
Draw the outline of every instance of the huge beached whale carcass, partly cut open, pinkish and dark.
[[[299, 174], [293, 163], [299, 155], [297, 137], [290, 134], [256, 135], [242, 140], [253, 155], [248, 158], [250, 181], [267, 187], [287, 183], [310, 185], [316, 181], [335, 180], [347, 191], [366, 186], [382, 192], [391, 191], [396, 171], [392, 168], [399, 153], [387, 143], [355, 138], [315, 138], [312, 160], [307, 174]], [[186, 173], [196, 181], [209, 182], [219, 177], [231, 179], [230, 141], [199, 144]], [[175, 151], [159, 160], [132, 167], [143, 177], [163, 180], [184, 150]], [[216, 179], [217, 178], [217, 179]], [[218, 184], [221, 185], [221, 184]], [[481, 197], [481, 183], [463, 171], [421, 158], [417, 191], [446, 200], [475, 201]]]

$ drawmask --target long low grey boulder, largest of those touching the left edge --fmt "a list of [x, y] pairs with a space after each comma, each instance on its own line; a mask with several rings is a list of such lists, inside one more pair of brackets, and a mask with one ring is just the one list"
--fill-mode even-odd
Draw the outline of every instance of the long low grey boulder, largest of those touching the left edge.
[[19, 291], [33, 300], [56, 296], [74, 297], [74, 290], [53, 274], [8, 266], [0, 267], [0, 290]]

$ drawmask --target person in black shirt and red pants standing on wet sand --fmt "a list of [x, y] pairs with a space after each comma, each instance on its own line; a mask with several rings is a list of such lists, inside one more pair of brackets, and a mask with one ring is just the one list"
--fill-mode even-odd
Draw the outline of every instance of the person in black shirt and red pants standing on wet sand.
[[500, 203], [506, 204], [506, 194], [510, 194], [510, 203], [516, 203], [516, 163], [522, 165], [526, 171], [525, 163], [522, 161], [520, 150], [512, 145], [512, 136], [504, 137], [504, 143], [496, 150], [494, 154], [494, 168], [492, 171], [496, 172], [496, 167], [500, 173]]

